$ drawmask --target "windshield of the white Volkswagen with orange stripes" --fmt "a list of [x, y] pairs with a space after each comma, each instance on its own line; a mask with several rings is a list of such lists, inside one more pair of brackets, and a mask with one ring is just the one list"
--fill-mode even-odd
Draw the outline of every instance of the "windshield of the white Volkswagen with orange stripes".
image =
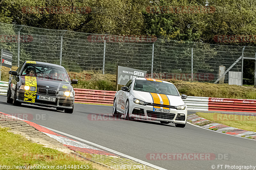
[[176, 90], [174, 85], [157, 81], [135, 80], [133, 89], [142, 92], [179, 96], [179, 92]]

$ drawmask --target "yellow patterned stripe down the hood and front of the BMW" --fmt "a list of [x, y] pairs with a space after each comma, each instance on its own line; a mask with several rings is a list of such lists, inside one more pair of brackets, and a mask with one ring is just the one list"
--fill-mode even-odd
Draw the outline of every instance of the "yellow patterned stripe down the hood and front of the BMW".
[[30, 91], [30, 89], [25, 90], [23, 101], [35, 103], [36, 91], [37, 91], [36, 77], [25, 76], [25, 85], [30, 86], [30, 87], [36, 87], [36, 90], [35, 91]]

